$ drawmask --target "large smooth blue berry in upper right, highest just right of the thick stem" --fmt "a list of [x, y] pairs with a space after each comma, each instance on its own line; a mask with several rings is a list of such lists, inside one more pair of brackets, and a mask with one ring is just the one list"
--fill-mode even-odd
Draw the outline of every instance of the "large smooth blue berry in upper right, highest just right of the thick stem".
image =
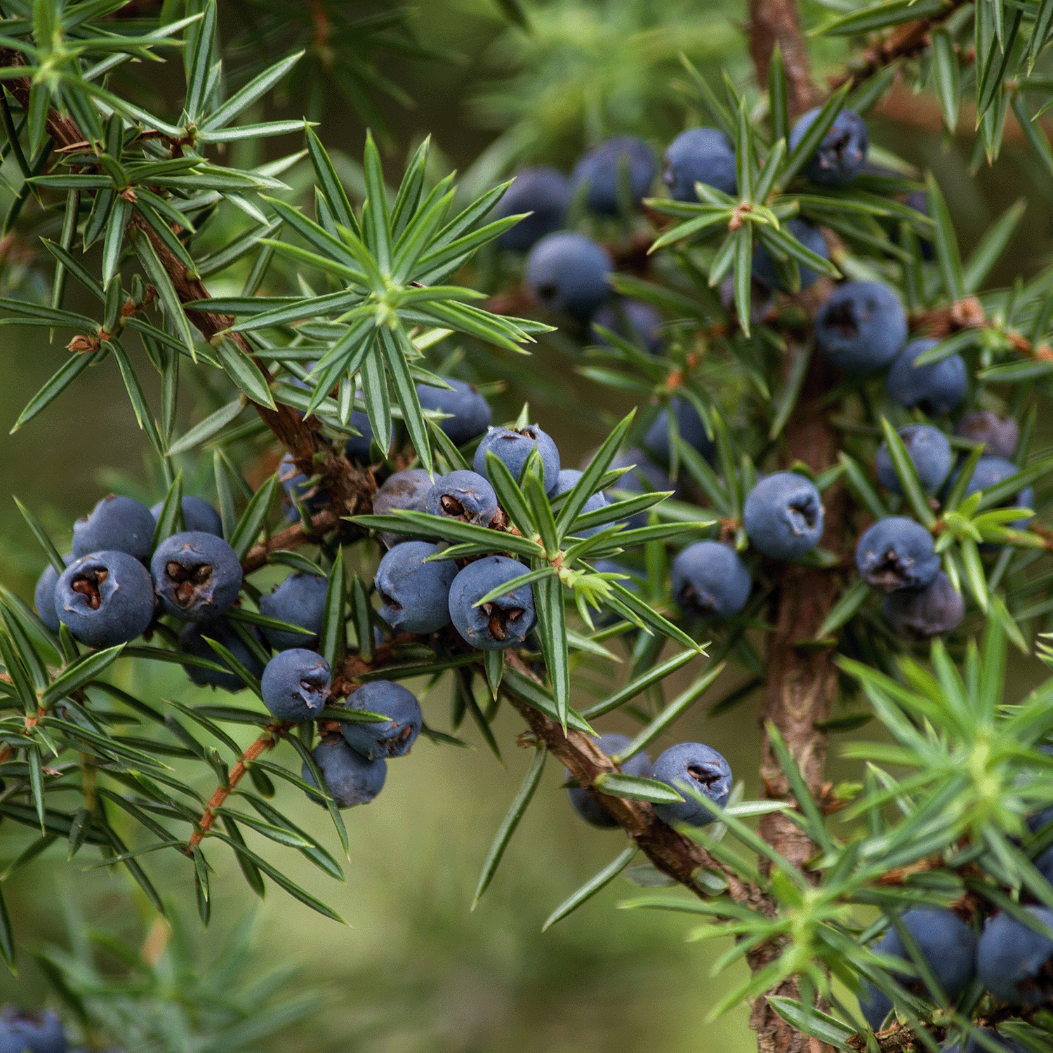
[[838, 285], [815, 316], [815, 342], [847, 373], [868, 374], [889, 365], [907, 339], [907, 315], [881, 281]]

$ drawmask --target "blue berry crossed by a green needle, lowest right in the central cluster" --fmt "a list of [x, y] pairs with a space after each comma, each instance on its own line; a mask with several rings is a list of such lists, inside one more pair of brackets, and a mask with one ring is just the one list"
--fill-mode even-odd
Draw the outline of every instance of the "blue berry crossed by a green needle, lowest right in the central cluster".
[[505, 556], [484, 556], [469, 563], [450, 588], [450, 617], [454, 628], [472, 647], [503, 651], [519, 647], [534, 628], [534, 591], [519, 585], [513, 592], [475, 604], [506, 581], [522, 577], [526, 568]]

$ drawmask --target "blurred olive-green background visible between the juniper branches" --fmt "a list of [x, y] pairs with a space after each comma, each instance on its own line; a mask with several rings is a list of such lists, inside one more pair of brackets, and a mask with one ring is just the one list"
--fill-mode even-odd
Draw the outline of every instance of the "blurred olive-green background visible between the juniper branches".
[[[235, 7], [227, 12], [232, 19]], [[714, 0], [557, 0], [530, 9], [534, 38], [505, 28], [489, 0], [422, 0], [416, 5], [415, 33], [436, 54], [431, 59], [394, 56], [382, 63], [383, 75], [405, 96], [376, 100], [386, 123], [383, 144], [391, 171], [428, 132], [449, 163], [461, 170], [489, 151], [495, 176], [508, 168], [517, 150], [528, 160], [565, 167], [582, 144], [614, 132], [642, 134], [661, 146], [699, 119], [692, 97], [676, 86], [681, 79], [678, 51], [687, 51], [710, 72], [722, 62], [736, 81], [749, 76], [738, 6]], [[836, 48], [820, 44], [819, 73], [838, 58]], [[294, 102], [289, 101], [290, 110], [299, 114]], [[326, 144], [352, 157], [359, 154], [362, 121], [335, 96], [321, 105], [319, 132]], [[896, 120], [872, 120], [875, 141], [936, 173], [966, 249], [1017, 197], [1029, 198], [1021, 233], [996, 281], [1030, 275], [1048, 260], [1053, 239], [1049, 179], [1012, 137], [997, 165], [984, 165], [974, 177], [969, 172], [973, 142], [967, 133], [954, 139], [942, 136], [923, 100], [894, 116]], [[286, 140], [273, 148], [295, 146]], [[32, 254], [32, 246], [27, 251]], [[4, 281], [12, 280], [8, 263]], [[59, 342], [48, 344], [45, 331], [0, 330], [4, 432], [27, 394], [65, 355]], [[496, 417], [513, 416], [529, 392], [534, 415], [556, 437], [565, 464], [576, 464], [621, 409], [610, 404], [609, 392], [574, 378], [571, 364], [556, 346], [539, 347], [530, 360], [493, 362], [495, 372], [511, 381], [497, 401]], [[517, 382], [516, 370], [522, 371], [523, 382]], [[539, 397], [525, 383], [538, 377], [556, 377], [560, 384]], [[211, 406], [207, 391], [188, 386], [181, 406], [184, 422], [199, 419]], [[110, 363], [87, 371], [46, 413], [0, 439], [4, 489], [37, 512], [57, 543], [67, 542], [73, 519], [118, 481], [137, 496], [159, 499], [160, 492], [150, 491], [144, 458], [145, 444]], [[29, 598], [42, 567], [14, 503], [0, 502], [3, 580]], [[699, 668], [698, 662], [689, 665], [671, 689]], [[710, 700], [720, 697], [736, 675], [718, 681]], [[1018, 671], [1018, 684], [1029, 677], [1028, 671]], [[160, 677], [152, 672], [148, 682], [128, 687], [146, 700], [207, 697], [178, 672]], [[448, 727], [446, 698], [433, 694], [422, 703], [430, 723]], [[756, 696], [714, 719], [704, 718], [707, 706], [703, 698], [680, 722], [677, 739], [711, 742], [744, 779], [747, 796], [756, 796]], [[233, 857], [213, 852], [218, 867], [214, 920], [206, 932], [198, 932], [196, 918], [190, 925], [198, 932], [194, 938], [204, 958], [220, 954], [234, 926], [255, 910], [257, 945], [250, 971], [263, 974], [278, 965], [299, 963], [297, 987], [319, 989], [324, 996], [320, 1011], [260, 1049], [635, 1053], [645, 1047], [652, 1053], [684, 1048], [740, 1053], [754, 1048], [744, 1011], [706, 1022], [707, 1008], [740, 979], [734, 972], [710, 977], [710, 962], [723, 950], [721, 942], [686, 942], [692, 923], [683, 917], [616, 912], [619, 900], [639, 891], [624, 880], [541, 934], [553, 908], [623, 847], [620, 833], [596, 831], [576, 818], [559, 789], [562, 772], [555, 763], [545, 772], [490, 892], [470, 913], [482, 860], [530, 759], [515, 744], [521, 730], [514, 714], [498, 719], [495, 733], [503, 764], [466, 726], [476, 749], [438, 748], [422, 739], [411, 758], [393, 762], [384, 793], [370, 807], [346, 813], [351, 858], [343, 885], [291, 851], [270, 842], [254, 846], [269, 856], [282, 853], [286, 872], [332, 905], [350, 928], [324, 920], [273, 886], [257, 907]], [[608, 719], [602, 730], [631, 729]], [[653, 753], [671, 741], [656, 743]], [[292, 751], [282, 759], [292, 763]], [[199, 790], [207, 794], [211, 788]], [[280, 788], [279, 794], [283, 804], [295, 808], [296, 821], [339, 851], [320, 810], [295, 800], [296, 792], [289, 788]], [[5, 826], [0, 834], [3, 859], [17, 856], [28, 836]], [[87, 862], [80, 857], [64, 867], [63, 851], [55, 846], [5, 885], [20, 938], [28, 947], [66, 945], [62, 919], [48, 907], [57, 888], [93, 923], [141, 939], [152, 910], [123, 874], [84, 870]], [[170, 860], [162, 866], [159, 883], [170, 890], [178, 910], [193, 915], [190, 867]], [[17, 979], [0, 975], [0, 1001], [33, 1006], [46, 997], [42, 976], [25, 955]]]

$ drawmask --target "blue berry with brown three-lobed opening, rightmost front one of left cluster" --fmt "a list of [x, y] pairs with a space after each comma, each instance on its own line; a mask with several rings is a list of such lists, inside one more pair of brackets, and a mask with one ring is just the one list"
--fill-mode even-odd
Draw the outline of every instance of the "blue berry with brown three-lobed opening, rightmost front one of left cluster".
[[164, 609], [184, 621], [218, 618], [241, 592], [238, 554], [215, 534], [173, 534], [157, 547], [150, 571]]

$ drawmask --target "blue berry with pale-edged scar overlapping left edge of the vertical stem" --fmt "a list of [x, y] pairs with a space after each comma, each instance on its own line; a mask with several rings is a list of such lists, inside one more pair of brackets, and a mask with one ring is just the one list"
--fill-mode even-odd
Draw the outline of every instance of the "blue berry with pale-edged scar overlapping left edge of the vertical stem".
[[799, 559], [822, 537], [822, 499], [794, 472], [761, 479], [746, 499], [742, 525], [754, 547], [773, 559]]

